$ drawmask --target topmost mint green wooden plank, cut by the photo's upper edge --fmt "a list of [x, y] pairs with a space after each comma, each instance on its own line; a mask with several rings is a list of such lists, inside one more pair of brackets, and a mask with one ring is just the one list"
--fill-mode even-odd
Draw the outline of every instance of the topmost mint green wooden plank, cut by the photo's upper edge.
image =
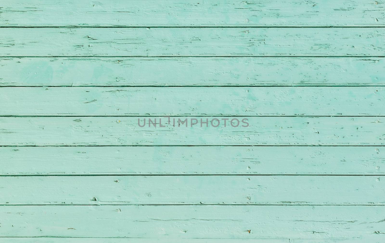
[[3, 0], [0, 26], [383, 26], [381, 1]]

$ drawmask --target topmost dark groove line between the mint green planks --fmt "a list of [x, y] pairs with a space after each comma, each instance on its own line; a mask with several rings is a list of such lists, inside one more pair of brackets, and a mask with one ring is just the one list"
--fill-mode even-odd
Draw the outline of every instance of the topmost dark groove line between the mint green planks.
[[159, 26], [159, 25], [141, 25], [141, 26], [127, 26], [127, 25], [107, 25], [107, 26], [81, 26], [81, 25], [18, 25], [18, 26], [0, 26], [0, 28], [384, 28], [385, 25], [201, 25], [201, 26]]

